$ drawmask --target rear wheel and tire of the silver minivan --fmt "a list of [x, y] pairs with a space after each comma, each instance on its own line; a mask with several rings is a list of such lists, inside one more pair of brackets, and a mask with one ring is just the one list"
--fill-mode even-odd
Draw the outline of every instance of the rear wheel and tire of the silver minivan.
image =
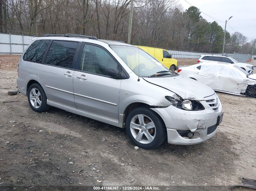
[[42, 86], [38, 83], [32, 84], [28, 88], [28, 103], [32, 110], [44, 112], [50, 109], [47, 105], [47, 97]]

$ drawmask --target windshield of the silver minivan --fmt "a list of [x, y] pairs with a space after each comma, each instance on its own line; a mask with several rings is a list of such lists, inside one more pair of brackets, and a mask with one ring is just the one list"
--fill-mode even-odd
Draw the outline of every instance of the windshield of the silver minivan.
[[[115, 53], [139, 77], [177, 76], [144, 50], [134, 46], [111, 45]], [[163, 75], [165, 74], [165, 75]]]

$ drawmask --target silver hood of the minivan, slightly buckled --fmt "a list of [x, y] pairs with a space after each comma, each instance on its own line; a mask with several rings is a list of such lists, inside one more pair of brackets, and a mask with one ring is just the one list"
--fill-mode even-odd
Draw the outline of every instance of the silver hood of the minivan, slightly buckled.
[[201, 82], [182, 75], [175, 77], [143, 78], [144, 80], [166, 88], [183, 99], [204, 100], [204, 97], [213, 95], [215, 92]]

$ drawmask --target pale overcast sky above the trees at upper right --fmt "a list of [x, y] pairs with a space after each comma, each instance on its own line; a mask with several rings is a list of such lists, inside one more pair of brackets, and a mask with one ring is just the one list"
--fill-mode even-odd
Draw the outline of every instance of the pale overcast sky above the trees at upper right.
[[[248, 41], [256, 38], [256, 0], [178, 0], [184, 11], [192, 4], [204, 13], [216, 18], [217, 21], [201, 12], [201, 16], [208, 22], [217, 21], [224, 29], [225, 20], [233, 16], [228, 24], [237, 32], [242, 33]], [[224, 21], [224, 22], [221, 22]], [[232, 34], [234, 30], [228, 26], [226, 30]]]

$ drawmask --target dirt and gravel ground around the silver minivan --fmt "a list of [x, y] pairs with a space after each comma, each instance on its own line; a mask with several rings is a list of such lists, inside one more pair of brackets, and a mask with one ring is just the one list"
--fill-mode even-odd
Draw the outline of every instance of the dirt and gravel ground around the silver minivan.
[[224, 118], [213, 138], [198, 145], [165, 141], [154, 150], [135, 150], [125, 129], [53, 107], [36, 113], [24, 95], [9, 96], [7, 92], [16, 88], [16, 73], [11, 67], [0, 70], [1, 186], [173, 189], [228, 186], [240, 183], [239, 177], [256, 178], [256, 99], [217, 93]]

